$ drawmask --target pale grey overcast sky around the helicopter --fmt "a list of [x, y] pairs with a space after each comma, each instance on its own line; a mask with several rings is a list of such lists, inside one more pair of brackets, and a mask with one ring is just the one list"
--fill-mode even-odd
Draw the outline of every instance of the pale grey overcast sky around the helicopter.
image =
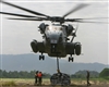
[[[80, 3], [89, 4], [88, 7], [70, 14], [71, 18], [87, 18], [87, 17], [108, 17], [109, 3], [107, 0], [5, 0], [14, 4], [47, 14], [51, 16], [64, 15], [72, 8]], [[28, 14], [25, 11], [0, 4], [0, 11]], [[33, 14], [32, 14], [33, 15]], [[40, 23], [50, 22], [26, 22], [11, 21], [7, 17], [11, 15], [0, 15], [0, 54], [22, 54], [33, 53], [31, 41], [36, 39], [41, 41], [41, 35], [38, 32]], [[95, 20], [94, 20], [95, 21]], [[97, 22], [108, 22], [106, 20], [97, 20]], [[70, 23], [75, 26], [74, 23]], [[109, 24], [93, 24], [80, 23], [77, 37], [74, 41], [82, 44], [82, 54], [74, 55], [74, 62], [94, 63], [99, 62], [109, 64], [108, 57], [108, 25]], [[68, 57], [66, 57], [68, 58]], [[66, 60], [66, 59], [63, 59]]]

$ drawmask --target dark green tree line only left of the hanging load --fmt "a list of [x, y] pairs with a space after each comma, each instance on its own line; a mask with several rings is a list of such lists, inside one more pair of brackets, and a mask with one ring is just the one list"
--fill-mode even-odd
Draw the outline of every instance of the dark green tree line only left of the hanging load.
[[[5, 70], [0, 70], [0, 78], [34, 78], [36, 71], [13, 71], [7, 72]], [[43, 73], [45, 78], [49, 78], [51, 75], [48, 73]]]

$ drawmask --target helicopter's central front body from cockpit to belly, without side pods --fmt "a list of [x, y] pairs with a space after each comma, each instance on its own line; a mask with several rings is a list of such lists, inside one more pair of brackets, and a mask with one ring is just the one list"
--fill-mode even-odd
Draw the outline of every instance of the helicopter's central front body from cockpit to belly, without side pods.
[[57, 55], [56, 53], [51, 53], [51, 47], [50, 45], [57, 45], [57, 53], [59, 53], [59, 57], [66, 57], [65, 53], [65, 46], [64, 44], [66, 42], [65, 37], [66, 33], [64, 33], [65, 28], [63, 28], [61, 25], [49, 25], [46, 28], [45, 32], [45, 47], [46, 47], [46, 52], [55, 57]]

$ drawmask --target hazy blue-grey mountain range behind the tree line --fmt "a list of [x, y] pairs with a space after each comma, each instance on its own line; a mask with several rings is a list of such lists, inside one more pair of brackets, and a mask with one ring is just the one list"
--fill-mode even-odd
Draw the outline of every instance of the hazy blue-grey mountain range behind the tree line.
[[[57, 60], [46, 55], [45, 61], [39, 61], [38, 54], [2, 54], [0, 69], [5, 71], [34, 71], [53, 74], [57, 72]], [[75, 63], [60, 59], [60, 70], [66, 74], [74, 74], [77, 71], [88, 70], [101, 72], [108, 65], [101, 63]]]

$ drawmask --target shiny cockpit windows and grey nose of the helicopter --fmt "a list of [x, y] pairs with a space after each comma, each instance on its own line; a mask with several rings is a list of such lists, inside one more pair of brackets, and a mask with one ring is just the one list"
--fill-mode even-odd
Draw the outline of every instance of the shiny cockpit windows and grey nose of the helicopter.
[[63, 29], [61, 25], [50, 25], [46, 28], [45, 34], [50, 40], [50, 44], [65, 42], [64, 38], [66, 37], [66, 33]]

